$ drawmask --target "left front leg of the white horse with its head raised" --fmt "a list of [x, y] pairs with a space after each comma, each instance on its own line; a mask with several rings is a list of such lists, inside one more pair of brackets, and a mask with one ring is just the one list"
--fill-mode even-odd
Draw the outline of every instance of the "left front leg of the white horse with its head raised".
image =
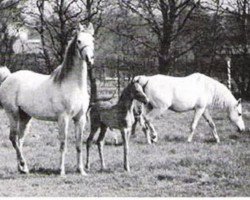
[[61, 152], [61, 164], [60, 164], [61, 176], [65, 176], [65, 154], [67, 151], [67, 135], [68, 135], [69, 119], [70, 119], [69, 116], [66, 114], [63, 114], [58, 118], [60, 152]]

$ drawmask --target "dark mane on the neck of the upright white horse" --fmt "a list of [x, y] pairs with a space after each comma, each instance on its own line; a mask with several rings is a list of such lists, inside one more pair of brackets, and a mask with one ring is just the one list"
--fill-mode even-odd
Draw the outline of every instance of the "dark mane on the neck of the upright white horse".
[[62, 80], [72, 70], [74, 66], [74, 56], [76, 55], [76, 40], [77, 35], [75, 35], [74, 38], [69, 42], [62, 64], [52, 72], [55, 82], [62, 82]]

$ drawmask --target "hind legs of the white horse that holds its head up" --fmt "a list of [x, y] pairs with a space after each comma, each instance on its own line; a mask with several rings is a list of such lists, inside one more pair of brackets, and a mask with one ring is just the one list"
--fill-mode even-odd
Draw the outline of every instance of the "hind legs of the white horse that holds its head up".
[[20, 118], [18, 114], [13, 114], [9, 112], [7, 112], [7, 115], [10, 120], [9, 138], [13, 147], [16, 150], [18, 171], [21, 173], [29, 173], [28, 166], [22, 153], [22, 146], [25, 136], [25, 130], [27, 128], [27, 124], [30, 120], [30, 117], [28, 117], [27, 115], [21, 115]]

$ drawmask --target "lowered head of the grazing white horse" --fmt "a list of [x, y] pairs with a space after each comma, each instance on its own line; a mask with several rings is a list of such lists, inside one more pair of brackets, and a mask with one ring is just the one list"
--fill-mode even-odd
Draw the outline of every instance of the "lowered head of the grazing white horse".
[[237, 103], [229, 108], [229, 118], [232, 122], [236, 124], [239, 131], [245, 130], [245, 124], [242, 119], [242, 105], [241, 99], [237, 101]]

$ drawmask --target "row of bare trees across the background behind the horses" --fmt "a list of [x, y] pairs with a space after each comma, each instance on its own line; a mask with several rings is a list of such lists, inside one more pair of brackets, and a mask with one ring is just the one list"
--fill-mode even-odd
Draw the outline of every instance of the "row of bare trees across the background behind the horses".
[[248, 0], [4, 0], [0, 64], [14, 65], [11, 26], [39, 37], [39, 64], [50, 73], [76, 25], [91, 21], [97, 38], [96, 64], [89, 67], [92, 98], [96, 74], [106, 65], [129, 69], [131, 76], [201, 72], [226, 82], [226, 57], [233, 89], [250, 98], [249, 7]]

